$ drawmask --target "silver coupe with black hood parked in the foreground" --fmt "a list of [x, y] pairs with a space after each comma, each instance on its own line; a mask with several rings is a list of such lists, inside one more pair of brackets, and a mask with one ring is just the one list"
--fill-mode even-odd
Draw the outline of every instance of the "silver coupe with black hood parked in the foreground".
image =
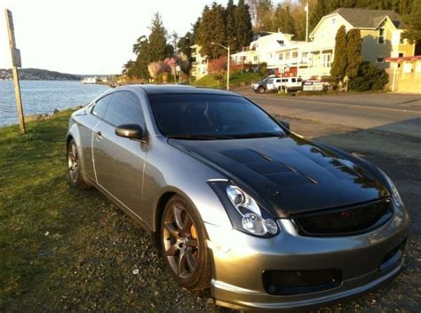
[[219, 305], [319, 306], [402, 268], [409, 215], [390, 178], [238, 94], [119, 87], [71, 115], [66, 145], [69, 184], [103, 192], [175, 283]]

